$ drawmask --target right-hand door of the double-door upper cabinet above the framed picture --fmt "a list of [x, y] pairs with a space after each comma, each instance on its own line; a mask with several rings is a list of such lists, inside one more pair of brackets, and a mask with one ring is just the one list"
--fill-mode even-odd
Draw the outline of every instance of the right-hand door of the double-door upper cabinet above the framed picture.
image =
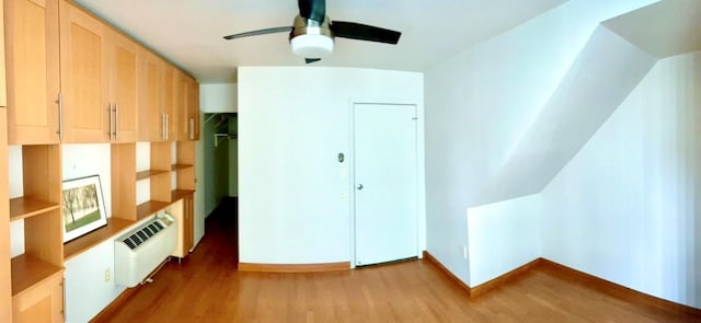
[[107, 31], [110, 76], [110, 135], [112, 141], [137, 141], [137, 53], [138, 46], [116, 31]]

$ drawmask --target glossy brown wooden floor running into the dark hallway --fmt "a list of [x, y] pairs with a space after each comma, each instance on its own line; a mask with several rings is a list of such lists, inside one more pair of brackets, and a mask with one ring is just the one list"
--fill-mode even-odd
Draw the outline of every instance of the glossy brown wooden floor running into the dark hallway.
[[209, 217], [189, 258], [169, 263], [107, 322], [701, 322], [548, 268], [473, 299], [426, 261], [323, 274], [238, 273], [234, 229], [226, 212]]

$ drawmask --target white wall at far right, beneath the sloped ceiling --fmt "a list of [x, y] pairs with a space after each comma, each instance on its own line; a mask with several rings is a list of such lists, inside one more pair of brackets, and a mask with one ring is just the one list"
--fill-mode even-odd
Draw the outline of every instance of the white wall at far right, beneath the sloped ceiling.
[[657, 62], [543, 191], [543, 255], [701, 308], [701, 54]]

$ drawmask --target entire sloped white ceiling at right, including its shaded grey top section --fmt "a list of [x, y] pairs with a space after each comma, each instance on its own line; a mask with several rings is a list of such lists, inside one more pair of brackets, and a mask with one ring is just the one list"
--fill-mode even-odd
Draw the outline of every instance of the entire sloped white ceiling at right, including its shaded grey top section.
[[701, 1], [665, 0], [602, 22], [482, 198], [541, 192], [657, 59], [701, 50]]

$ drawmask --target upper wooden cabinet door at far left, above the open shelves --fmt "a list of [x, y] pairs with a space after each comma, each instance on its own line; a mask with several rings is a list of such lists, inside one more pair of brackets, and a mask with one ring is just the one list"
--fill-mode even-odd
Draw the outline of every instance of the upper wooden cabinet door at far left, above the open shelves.
[[8, 142], [59, 142], [57, 0], [4, 0]]

